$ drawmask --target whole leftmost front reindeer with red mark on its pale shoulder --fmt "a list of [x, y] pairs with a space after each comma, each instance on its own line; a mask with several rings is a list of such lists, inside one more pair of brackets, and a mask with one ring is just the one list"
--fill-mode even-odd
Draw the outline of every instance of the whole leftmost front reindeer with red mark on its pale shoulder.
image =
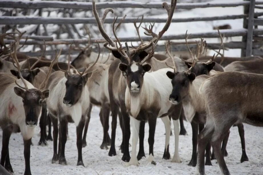
[[[19, 42], [17, 42], [17, 46]], [[14, 76], [0, 73], [0, 123], [3, 129], [3, 147], [1, 151], [1, 165], [9, 172], [13, 172], [9, 160], [9, 139], [12, 132], [21, 131], [24, 140], [25, 174], [31, 174], [30, 170], [30, 146], [31, 138], [34, 135], [43, 101], [48, 97], [49, 90], [42, 91], [46, 80], [51, 73], [52, 66], [57, 61], [59, 55], [55, 57], [50, 65], [49, 72], [39, 89], [24, 80], [21, 69], [16, 57], [16, 48], [13, 56], [21, 79], [17, 80]]]

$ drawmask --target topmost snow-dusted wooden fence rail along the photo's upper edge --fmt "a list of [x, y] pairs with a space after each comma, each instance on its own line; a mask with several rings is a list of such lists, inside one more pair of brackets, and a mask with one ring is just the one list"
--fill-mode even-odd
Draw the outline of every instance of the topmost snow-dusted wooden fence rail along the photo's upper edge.
[[[249, 5], [250, 2], [234, 2], [234, 3], [178, 3], [177, 9], [195, 9], [207, 7], [237, 7]], [[262, 5], [262, 0], [257, 0], [256, 5]], [[13, 1], [1, 0], [0, 7], [5, 8], [21, 8], [21, 9], [40, 9], [40, 8], [68, 8], [68, 9], [85, 9], [91, 10], [91, 2], [64, 2], [64, 1]], [[114, 2], [98, 2], [97, 9], [104, 8], [162, 8], [161, 2], [140, 3], [133, 1], [114, 1]]]

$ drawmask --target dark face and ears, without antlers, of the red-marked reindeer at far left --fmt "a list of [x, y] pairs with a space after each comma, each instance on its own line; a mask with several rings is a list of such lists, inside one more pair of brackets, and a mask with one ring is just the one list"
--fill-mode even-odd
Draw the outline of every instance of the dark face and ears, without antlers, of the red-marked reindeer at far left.
[[41, 113], [42, 102], [48, 97], [49, 90], [24, 90], [20, 87], [14, 87], [14, 91], [18, 96], [22, 97], [26, 116], [26, 125], [29, 127], [35, 127], [37, 125], [38, 117]]

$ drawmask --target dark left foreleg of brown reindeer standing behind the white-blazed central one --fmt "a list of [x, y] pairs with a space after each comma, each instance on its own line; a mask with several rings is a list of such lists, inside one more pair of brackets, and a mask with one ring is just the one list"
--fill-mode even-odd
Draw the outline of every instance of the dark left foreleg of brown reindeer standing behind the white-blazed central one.
[[110, 108], [112, 112], [112, 135], [111, 135], [111, 145], [108, 155], [109, 156], [116, 156], [116, 149], [115, 149], [115, 137], [116, 137], [116, 127], [117, 127], [117, 115], [119, 111], [119, 107], [114, 101], [112, 100], [110, 103]]

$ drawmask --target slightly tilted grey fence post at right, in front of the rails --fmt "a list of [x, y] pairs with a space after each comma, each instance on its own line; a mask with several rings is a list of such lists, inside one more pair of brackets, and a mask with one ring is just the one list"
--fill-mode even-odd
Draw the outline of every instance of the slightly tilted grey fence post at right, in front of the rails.
[[255, 0], [250, 0], [250, 7], [249, 7], [249, 14], [248, 14], [248, 32], [247, 32], [247, 38], [246, 38], [246, 56], [252, 55], [254, 10], [255, 10]]

